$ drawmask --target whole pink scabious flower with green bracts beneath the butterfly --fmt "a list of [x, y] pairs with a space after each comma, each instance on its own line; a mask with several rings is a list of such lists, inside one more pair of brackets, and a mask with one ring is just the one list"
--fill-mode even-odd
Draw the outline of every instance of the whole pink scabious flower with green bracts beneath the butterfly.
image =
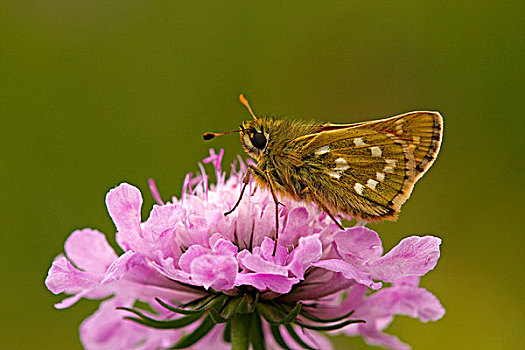
[[46, 286], [71, 295], [59, 309], [104, 299], [80, 326], [85, 348], [330, 349], [325, 334], [339, 332], [409, 349], [383, 333], [394, 315], [443, 316], [437, 298], [418, 287], [437, 263], [439, 238], [408, 237], [384, 253], [374, 231], [340, 230], [317, 207], [282, 199], [274, 254], [275, 207], [266, 190], [250, 188], [224, 215], [246, 164], [239, 158], [227, 178], [222, 156], [211, 150], [204, 159], [215, 167], [216, 184], [199, 165], [180, 199], [163, 203], [150, 182], [158, 205], [144, 222], [136, 187], [110, 190], [106, 205], [122, 254], [97, 230], [69, 236]]

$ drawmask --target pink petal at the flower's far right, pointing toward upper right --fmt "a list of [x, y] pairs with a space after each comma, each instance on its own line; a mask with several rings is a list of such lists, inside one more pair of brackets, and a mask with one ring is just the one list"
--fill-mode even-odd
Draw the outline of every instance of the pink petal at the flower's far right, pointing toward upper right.
[[432, 236], [408, 237], [383, 257], [369, 264], [375, 279], [393, 282], [407, 276], [423, 276], [439, 259], [441, 239]]

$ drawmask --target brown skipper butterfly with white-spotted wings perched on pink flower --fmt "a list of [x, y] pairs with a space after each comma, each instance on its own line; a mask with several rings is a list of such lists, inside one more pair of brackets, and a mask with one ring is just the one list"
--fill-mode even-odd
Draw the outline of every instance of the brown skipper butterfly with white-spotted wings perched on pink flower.
[[[313, 202], [332, 218], [346, 214], [361, 222], [396, 220], [415, 183], [432, 166], [443, 139], [438, 112], [409, 112], [355, 124], [320, 124], [256, 116], [239, 130], [242, 147], [257, 161], [250, 165], [237, 203], [250, 176], [278, 198]], [[205, 133], [205, 140], [228, 133]]]

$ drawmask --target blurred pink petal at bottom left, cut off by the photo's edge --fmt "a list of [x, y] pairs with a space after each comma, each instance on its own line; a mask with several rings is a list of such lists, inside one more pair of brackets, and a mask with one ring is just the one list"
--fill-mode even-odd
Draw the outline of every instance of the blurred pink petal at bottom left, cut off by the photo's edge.
[[85, 349], [159, 349], [168, 348], [180, 337], [178, 330], [166, 332], [144, 327], [124, 319], [129, 313], [116, 310], [118, 306], [131, 307], [132, 301], [110, 299], [80, 326], [80, 339]]

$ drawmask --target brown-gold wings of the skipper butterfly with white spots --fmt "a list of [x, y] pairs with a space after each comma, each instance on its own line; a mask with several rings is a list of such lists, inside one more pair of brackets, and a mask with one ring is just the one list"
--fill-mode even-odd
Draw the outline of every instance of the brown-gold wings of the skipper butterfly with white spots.
[[309, 166], [312, 171], [303, 175], [318, 201], [366, 220], [394, 219], [414, 183], [432, 164], [441, 125], [437, 113], [414, 112], [375, 122], [329, 125], [326, 131], [292, 143], [300, 147], [306, 164], [322, 164]]

